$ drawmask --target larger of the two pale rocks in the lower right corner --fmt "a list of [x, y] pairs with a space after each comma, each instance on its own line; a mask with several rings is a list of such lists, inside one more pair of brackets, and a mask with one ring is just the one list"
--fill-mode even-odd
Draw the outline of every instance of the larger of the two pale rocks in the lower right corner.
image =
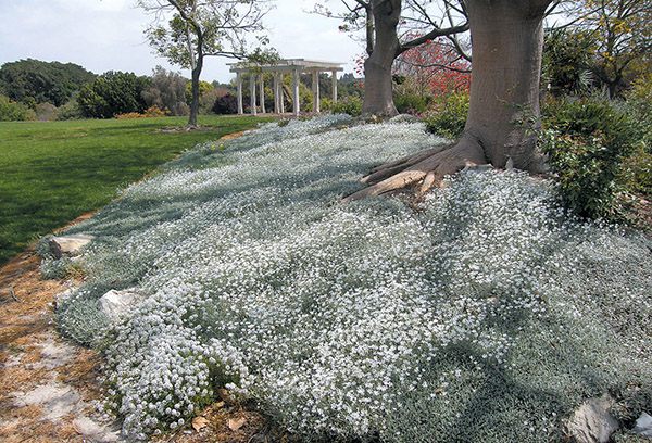
[[567, 431], [577, 443], [606, 443], [620, 425], [611, 414], [615, 401], [610, 394], [585, 402], [568, 420]]

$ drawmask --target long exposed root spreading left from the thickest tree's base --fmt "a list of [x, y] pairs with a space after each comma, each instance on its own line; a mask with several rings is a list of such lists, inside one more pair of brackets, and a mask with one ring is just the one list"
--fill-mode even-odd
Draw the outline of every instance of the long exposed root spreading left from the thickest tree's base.
[[456, 144], [429, 149], [372, 168], [369, 175], [361, 180], [369, 186], [344, 198], [341, 203], [380, 195], [418, 182], [419, 193], [423, 194], [447, 175], [465, 166], [486, 163], [479, 142], [465, 135]]

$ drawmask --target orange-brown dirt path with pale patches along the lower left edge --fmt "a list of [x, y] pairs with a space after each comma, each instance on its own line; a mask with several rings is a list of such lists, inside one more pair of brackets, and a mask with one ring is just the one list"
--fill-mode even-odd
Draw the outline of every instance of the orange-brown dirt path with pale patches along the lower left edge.
[[54, 295], [67, 284], [39, 278], [34, 248], [0, 269], [0, 441], [118, 442], [97, 409], [93, 351], [62, 340]]

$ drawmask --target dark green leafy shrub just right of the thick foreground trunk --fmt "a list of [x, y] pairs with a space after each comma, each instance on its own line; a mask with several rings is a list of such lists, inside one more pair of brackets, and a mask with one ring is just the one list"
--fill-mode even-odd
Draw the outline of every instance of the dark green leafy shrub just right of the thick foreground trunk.
[[551, 101], [543, 114], [539, 143], [565, 204], [590, 218], [614, 216], [623, 160], [642, 145], [640, 125], [603, 98]]

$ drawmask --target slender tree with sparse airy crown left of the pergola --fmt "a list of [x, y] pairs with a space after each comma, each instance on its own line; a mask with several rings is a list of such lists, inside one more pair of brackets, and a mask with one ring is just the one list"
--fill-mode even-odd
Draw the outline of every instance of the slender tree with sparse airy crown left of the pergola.
[[[147, 29], [150, 46], [174, 64], [191, 71], [189, 127], [197, 126], [199, 78], [205, 56], [247, 56], [246, 34], [263, 29], [268, 0], [138, 0], [155, 14]], [[261, 43], [266, 39], [259, 37]]]

